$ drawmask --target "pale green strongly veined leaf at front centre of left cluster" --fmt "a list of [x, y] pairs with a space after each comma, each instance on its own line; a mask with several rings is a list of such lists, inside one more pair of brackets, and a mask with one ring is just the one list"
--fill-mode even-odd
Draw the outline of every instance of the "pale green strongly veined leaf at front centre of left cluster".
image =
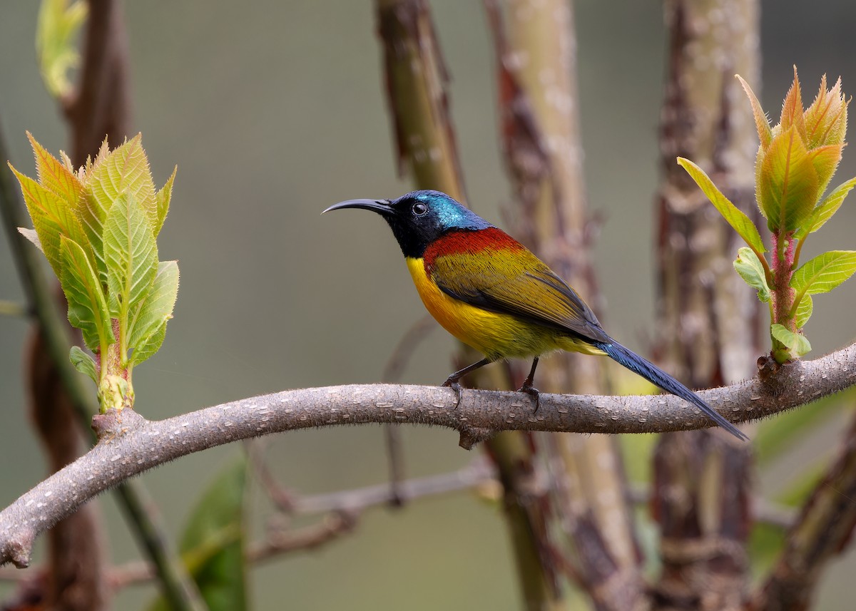
[[152, 226], [131, 193], [116, 198], [104, 222], [104, 263], [110, 314], [127, 332], [128, 312], [146, 297], [158, 270]]

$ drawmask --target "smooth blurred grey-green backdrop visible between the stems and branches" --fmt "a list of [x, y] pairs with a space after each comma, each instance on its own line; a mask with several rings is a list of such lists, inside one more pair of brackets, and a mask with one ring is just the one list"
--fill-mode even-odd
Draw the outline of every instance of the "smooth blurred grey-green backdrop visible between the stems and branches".
[[[510, 196], [484, 10], [460, 0], [433, 0], [431, 8], [452, 75], [451, 112], [469, 200], [503, 225]], [[319, 215], [342, 199], [411, 190], [396, 175], [372, 3], [150, 0], [125, 9], [134, 131], [143, 133], [158, 187], [178, 165], [158, 247], [162, 259], [178, 259], [181, 289], [162, 350], [136, 371], [138, 410], [167, 418], [281, 389], [379, 381], [401, 335], [424, 310], [383, 222], [360, 213]], [[645, 353], [653, 333], [663, 8], [584, 0], [575, 12], [589, 203], [605, 219], [595, 250], [605, 326]], [[29, 0], [0, 9], [0, 124], [11, 161], [30, 175], [25, 130], [54, 153], [68, 147], [62, 117], [39, 77], [37, 13], [38, 3]], [[751, 85], [771, 114], [794, 64], [806, 104], [823, 73], [832, 81], [841, 75], [848, 97], [856, 91], [854, 23], [852, 3], [762, 3], [763, 83]], [[834, 184], [853, 175], [856, 153], [845, 149]], [[853, 202], [835, 219], [824, 228], [824, 249], [852, 249]], [[804, 257], [820, 246], [809, 240]], [[808, 328], [814, 355], [853, 342], [854, 298], [856, 282], [815, 301]], [[23, 299], [4, 235], [0, 299]], [[0, 318], [3, 506], [45, 475], [21, 388], [27, 329], [23, 319]], [[442, 382], [454, 346], [437, 328], [402, 381]], [[785, 487], [795, 466], [827, 457], [841, 422], [830, 418], [785, 459], [764, 466], [761, 488]], [[449, 471], [473, 458], [449, 431], [401, 432], [408, 476]], [[239, 451], [217, 448], [143, 476], [174, 533], [206, 479]], [[276, 477], [305, 493], [387, 477], [376, 426], [275, 436], [267, 455]], [[101, 502], [113, 561], [137, 558], [115, 502], [110, 495]], [[851, 551], [826, 574], [818, 608], [840, 608], [836, 601], [852, 591], [845, 576], [853, 570]], [[254, 569], [251, 584], [260, 609], [519, 605], [502, 516], [470, 493], [416, 501], [400, 512], [372, 510], [353, 535]], [[116, 608], [141, 608], [153, 592], [153, 586], [123, 590]]]

